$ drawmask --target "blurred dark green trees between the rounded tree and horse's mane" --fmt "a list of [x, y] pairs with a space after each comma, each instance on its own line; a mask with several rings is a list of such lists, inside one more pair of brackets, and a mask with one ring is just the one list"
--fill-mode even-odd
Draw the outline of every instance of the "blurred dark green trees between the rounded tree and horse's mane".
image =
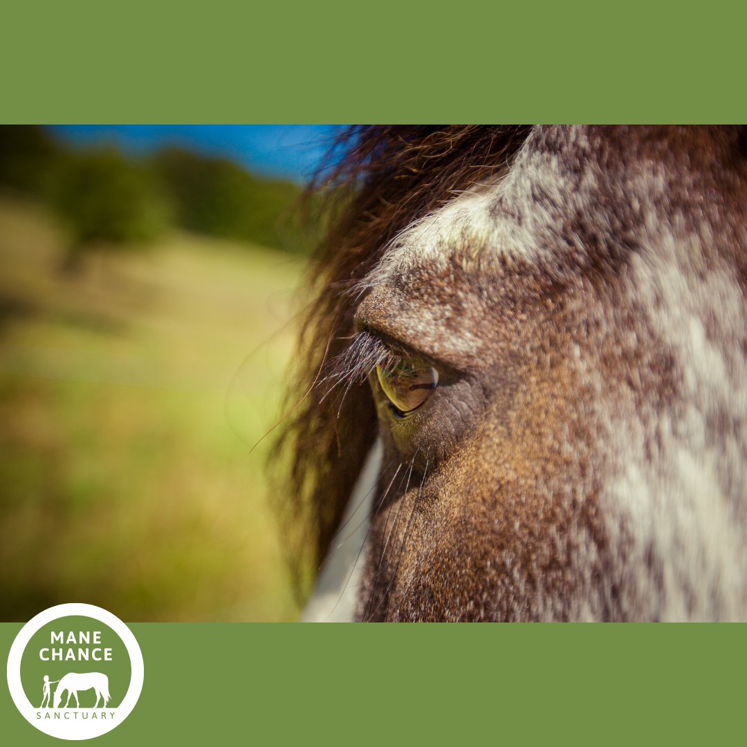
[[256, 179], [232, 161], [180, 148], [162, 150], [154, 162], [185, 229], [291, 251], [300, 247], [293, 210], [299, 187]]

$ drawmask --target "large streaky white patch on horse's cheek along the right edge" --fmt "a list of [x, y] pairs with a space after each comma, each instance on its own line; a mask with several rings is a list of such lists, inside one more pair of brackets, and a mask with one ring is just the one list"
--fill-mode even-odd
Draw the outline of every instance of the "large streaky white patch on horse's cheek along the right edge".
[[[662, 620], [747, 617], [747, 309], [725, 268], [698, 276], [701, 238], [652, 236], [630, 262], [630, 301], [683, 376], [672, 412], [653, 407], [607, 423], [619, 476], [602, 496], [613, 542], [639, 579], [630, 610]], [[710, 320], [709, 338], [704, 320]], [[724, 430], [724, 421], [731, 427]], [[653, 458], [646, 444], [657, 444]], [[632, 536], [616, 536], [624, 518]], [[661, 568], [648, 567], [653, 550]], [[654, 604], [654, 607], [651, 607]]]

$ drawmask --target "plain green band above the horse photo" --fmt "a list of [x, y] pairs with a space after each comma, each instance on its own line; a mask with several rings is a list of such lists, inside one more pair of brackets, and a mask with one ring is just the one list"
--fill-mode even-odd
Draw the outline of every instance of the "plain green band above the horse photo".
[[3, 10], [5, 123], [722, 122], [744, 6], [29, 0]]

